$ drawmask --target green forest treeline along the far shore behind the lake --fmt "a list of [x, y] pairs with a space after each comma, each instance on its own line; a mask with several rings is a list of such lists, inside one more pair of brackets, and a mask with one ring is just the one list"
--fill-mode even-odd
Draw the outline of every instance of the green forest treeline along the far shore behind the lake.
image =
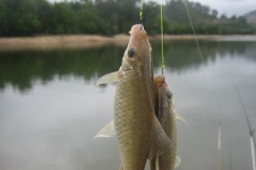
[[[243, 17], [219, 16], [216, 10], [187, 0], [164, 5], [164, 34], [192, 34], [185, 4], [198, 35], [255, 34], [255, 27]], [[139, 22], [139, 12], [140, 0], [0, 0], [0, 36], [127, 34]], [[143, 24], [149, 34], [159, 34], [159, 4], [143, 4]]]

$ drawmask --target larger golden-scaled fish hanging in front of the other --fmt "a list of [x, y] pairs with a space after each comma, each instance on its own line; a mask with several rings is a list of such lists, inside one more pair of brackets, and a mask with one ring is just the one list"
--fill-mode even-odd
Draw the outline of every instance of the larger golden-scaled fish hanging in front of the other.
[[[97, 84], [116, 81], [114, 129], [121, 169], [144, 170], [147, 159], [172, 147], [155, 113], [151, 45], [141, 24], [132, 26], [122, 66]], [[111, 124], [111, 123], [110, 123]]]

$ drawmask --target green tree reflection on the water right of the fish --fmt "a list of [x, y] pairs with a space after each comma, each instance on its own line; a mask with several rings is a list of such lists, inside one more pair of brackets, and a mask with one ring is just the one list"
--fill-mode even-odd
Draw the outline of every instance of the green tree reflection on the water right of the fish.
[[[182, 71], [208, 62], [214, 62], [216, 57], [235, 57], [243, 54], [245, 58], [256, 59], [255, 42], [199, 42], [203, 59], [199, 56], [195, 42], [171, 42], [164, 46], [166, 50], [166, 65], [172, 70]], [[158, 49], [158, 48], [157, 48]], [[160, 53], [160, 51], [158, 51]], [[246, 54], [245, 54], [246, 53]], [[244, 55], [245, 54], [245, 55]], [[159, 59], [158, 59], [159, 60]]]

